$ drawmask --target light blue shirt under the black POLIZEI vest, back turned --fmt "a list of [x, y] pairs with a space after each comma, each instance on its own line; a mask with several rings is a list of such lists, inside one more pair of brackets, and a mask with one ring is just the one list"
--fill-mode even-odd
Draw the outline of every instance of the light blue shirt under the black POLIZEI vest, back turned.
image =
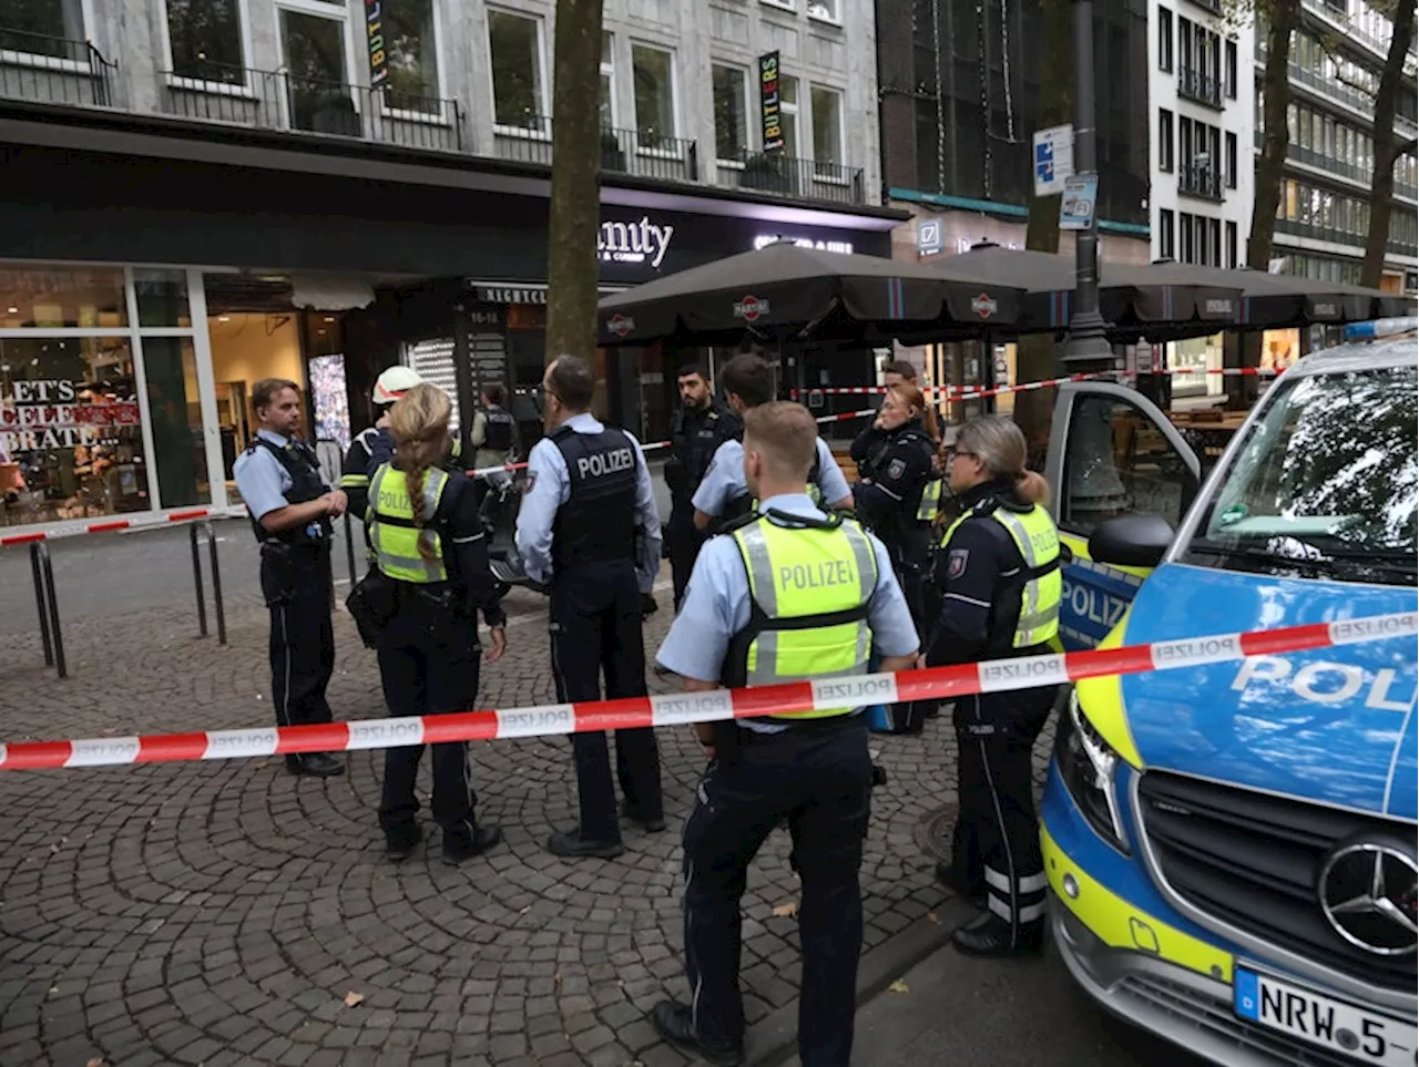
[[[606, 429], [585, 411], [572, 416], [563, 426], [585, 434]], [[640, 450], [640, 441], [629, 433], [626, 437], [636, 450], [636, 525], [640, 528], [636, 575], [640, 592], [648, 593], [660, 572], [660, 515], [656, 512], [656, 492], [650, 484], [646, 454]], [[551, 437], [543, 437], [528, 457], [528, 491], [518, 512], [518, 552], [522, 555], [522, 568], [534, 582], [552, 580], [552, 524], [558, 508], [570, 495], [572, 478], [566, 471], [566, 457]]]

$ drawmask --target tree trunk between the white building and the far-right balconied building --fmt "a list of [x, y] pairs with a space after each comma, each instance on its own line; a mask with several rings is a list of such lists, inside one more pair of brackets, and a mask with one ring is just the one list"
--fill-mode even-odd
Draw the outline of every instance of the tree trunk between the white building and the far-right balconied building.
[[[1266, 71], [1261, 74], [1261, 157], [1256, 163], [1256, 199], [1252, 204], [1252, 233], [1246, 262], [1254, 271], [1270, 270], [1276, 237], [1276, 210], [1281, 203], [1281, 173], [1291, 131], [1286, 111], [1291, 104], [1291, 37], [1301, 20], [1301, 0], [1274, 0], [1266, 26]], [[1261, 366], [1261, 332], [1242, 335], [1242, 366]], [[1249, 407], [1257, 394], [1254, 377], [1225, 380], [1227, 407]]]

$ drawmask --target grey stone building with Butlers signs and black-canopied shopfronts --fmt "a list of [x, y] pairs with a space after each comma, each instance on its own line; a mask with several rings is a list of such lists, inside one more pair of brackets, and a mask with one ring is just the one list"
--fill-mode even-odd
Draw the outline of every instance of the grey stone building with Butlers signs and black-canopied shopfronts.
[[[26, 482], [3, 521], [234, 499], [267, 376], [331, 448], [400, 360], [460, 411], [514, 389], [535, 431], [552, 17], [0, 4], [0, 464]], [[890, 253], [866, 0], [607, 0], [604, 28], [603, 289], [780, 237]], [[666, 365], [704, 356], [595, 353], [600, 410], [661, 436]]]

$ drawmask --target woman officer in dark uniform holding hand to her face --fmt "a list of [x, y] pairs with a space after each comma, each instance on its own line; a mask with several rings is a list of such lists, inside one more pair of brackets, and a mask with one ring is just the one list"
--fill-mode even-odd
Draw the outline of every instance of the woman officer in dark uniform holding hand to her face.
[[[877, 420], [851, 448], [860, 475], [854, 487], [857, 515], [887, 546], [918, 631], [935, 621], [927, 617], [925, 586], [931, 528], [941, 504], [941, 478], [932, 465], [937, 437], [937, 416], [921, 390], [901, 383], [888, 387]], [[925, 705], [895, 705], [895, 731], [920, 734]]]

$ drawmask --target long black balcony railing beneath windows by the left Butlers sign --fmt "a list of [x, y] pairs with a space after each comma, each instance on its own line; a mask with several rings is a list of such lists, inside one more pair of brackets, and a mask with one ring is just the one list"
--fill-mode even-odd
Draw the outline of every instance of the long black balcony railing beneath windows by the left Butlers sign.
[[458, 101], [203, 62], [162, 71], [162, 108], [201, 122], [463, 150]]

